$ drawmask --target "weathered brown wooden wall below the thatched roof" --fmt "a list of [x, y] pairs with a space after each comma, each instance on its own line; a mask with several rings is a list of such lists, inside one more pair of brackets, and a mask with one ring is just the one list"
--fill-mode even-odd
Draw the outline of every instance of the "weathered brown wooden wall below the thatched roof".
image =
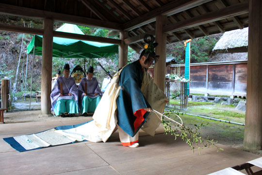
[[[154, 68], [148, 69], [153, 76]], [[169, 65], [166, 74], [184, 75], [184, 64]], [[190, 93], [246, 96], [247, 61], [190, 64]], [[180, 88], [175, 82], [170, 90]]]

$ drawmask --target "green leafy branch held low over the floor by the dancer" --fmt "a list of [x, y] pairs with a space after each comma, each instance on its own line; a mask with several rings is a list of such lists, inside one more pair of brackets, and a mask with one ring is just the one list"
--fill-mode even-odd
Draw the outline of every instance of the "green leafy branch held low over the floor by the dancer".
[[[218, 147], [217, 141], [214, 141], [213, 139], [209, 138], [202, 138], [201, 137], [201, 132], [199, 131], [201, 127], [206, 126], [207, 124], [201, 123], [200, 126], [197, 126], [195, 124], [195, 127], [190, 127], [190, 126], [185, 126], [182, 125], [179, 129], [179, 127], [173, 128], [170, 125], [170, 121], [162, 120], [162, 123], [164, 125], [164, 134], [171, 133], [171, 135], [175, 136], [175, 140], [177, 137], [180, 137], [183, 141], [185, 141], [189, 146], [190, 149], [195, 152], [195, 148], [199, 150], [199, 155], [200, 155], [200, 150], [203, 149], [204, 147], [213, 147], [215, 146], [217, 151], [219, 150], [224, 150], [223, 148]], [[177, 125], [179, 126], [179, 125]]]

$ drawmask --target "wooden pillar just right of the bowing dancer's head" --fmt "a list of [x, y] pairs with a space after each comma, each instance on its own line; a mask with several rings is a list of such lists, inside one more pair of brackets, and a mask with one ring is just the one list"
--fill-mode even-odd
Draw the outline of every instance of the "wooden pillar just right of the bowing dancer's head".
[[159, 60], [154, 67], [154, 83], [164, 91], [165, 87], [165, 52], [166, 52], [166, 34], [163, 33], [163, 26], [166, 24], [166, 16], [157, 16], [156, 18], [156, 54]]

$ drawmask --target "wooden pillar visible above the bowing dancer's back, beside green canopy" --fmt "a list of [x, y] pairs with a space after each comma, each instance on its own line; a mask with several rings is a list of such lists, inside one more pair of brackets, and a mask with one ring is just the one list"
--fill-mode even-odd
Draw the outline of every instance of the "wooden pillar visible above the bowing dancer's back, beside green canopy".
[[127, 37], [127, 31], [120, 31], [121, 45], [119, 46], [118, 69], [127, 65], [128, 45], [124, 41]]

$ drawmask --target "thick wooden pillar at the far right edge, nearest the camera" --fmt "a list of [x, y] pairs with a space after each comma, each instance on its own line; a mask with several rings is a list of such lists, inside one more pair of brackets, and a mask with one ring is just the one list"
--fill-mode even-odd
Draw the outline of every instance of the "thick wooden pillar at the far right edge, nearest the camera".
[[262, 150], [262, 0], [249, 0], [244, 148]]

